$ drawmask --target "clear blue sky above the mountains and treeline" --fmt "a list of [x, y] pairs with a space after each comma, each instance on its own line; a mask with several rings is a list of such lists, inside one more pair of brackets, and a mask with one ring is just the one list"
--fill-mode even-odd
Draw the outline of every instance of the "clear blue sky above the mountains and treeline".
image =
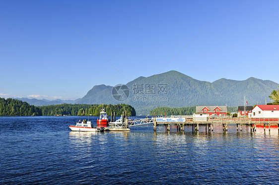
[[158, 74], [187, 44], [161, 72], [279, 83], [278, 8], [278, 0], [0, 0], [0, 96], [83, 97], [94, 85]]

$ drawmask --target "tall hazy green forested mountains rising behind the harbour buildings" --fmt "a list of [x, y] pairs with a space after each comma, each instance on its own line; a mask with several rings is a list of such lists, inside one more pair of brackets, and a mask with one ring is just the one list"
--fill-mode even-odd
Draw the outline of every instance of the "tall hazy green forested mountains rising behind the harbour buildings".
[[[244, 96], [249, 105], [270, 102], [269, 95], [279, 84], [270, 80], [248, 78], [243, 81], [219, 79], [212, 83], [193, 79], [177, 71], [150, 77], [139, 77], [128, 84], [129, 96], [124, 101], [112, 95], [112, 86], [94, 86], [77, 103], [117, 104], [133, 106], [137, 114], [149, 114], [156, 107], [189, 107], [198, 105], [241, 106]], [[155, 91], [153, 91], [155, 90]], [[163, 91], [166, 90], [166, 91]], [[119, 91], [119, 93], [123, 93]]]

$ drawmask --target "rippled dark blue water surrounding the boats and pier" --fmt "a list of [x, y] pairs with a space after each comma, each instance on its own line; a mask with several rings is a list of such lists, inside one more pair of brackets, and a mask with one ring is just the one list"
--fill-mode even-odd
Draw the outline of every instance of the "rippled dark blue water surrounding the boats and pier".
[[79, 119], [0, 117], [0, 184], [279, 184], [277, 128], [70, 132]]

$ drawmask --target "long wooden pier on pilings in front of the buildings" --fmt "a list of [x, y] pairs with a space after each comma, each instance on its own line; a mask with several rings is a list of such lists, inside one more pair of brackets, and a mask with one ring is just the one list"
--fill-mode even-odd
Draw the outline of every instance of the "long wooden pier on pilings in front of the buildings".
[[186, 125], [192, 125], [193, 132], [199, 132], [199, 126], [205, 125], [206, 132], [213, 132], [214, 125], [222, 125], [223, 131], [228, 131], [228, 125], [236, 125], [236, 131], [242, 131], [242, 125], [249, 125], [251, 132], [257, 130], [257, 126], [263, 126], [264, 130], [268, 127], [269, 131], [271, 127], [278, 127], [279, 132], [279, 118], [209, 118], [207, 120], [195, 121], [191, 118], [185, 119], [185, 122], [159, 122], [153, 118], [153, 128], [156, 132], [157, 125], [165, 125], [166, 130], [170, 131], [170, 124], [176, 125], [177, 131], [184, 131]]

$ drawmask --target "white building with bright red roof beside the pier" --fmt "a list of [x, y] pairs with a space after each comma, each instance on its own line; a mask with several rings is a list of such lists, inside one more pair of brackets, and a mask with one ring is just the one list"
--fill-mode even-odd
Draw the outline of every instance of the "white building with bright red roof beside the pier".
[[252, 118], [279, 118], [279, 105], [256, 105], [250, 116]]

